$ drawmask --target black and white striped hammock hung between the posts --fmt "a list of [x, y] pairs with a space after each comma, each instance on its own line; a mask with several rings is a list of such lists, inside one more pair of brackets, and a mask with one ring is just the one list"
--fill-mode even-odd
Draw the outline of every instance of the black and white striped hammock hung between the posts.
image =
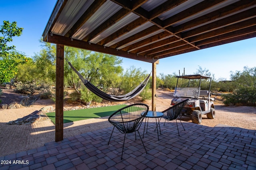
[[99, 96], [102, 99], [111, 101], [111, 102], [124, 102], [127, 100], [130, 100], [132, 98], [134, 98], [135, 96], [137, 96], [147, 85], [148, 80], [150, 78], [150, 74], [148, 74], [148, 76], [145, 78], [145, 80], [143, 80], [134, 90], [132, 90], [131, 92], [121, 95], [121, 96], [114, 96], [114, 95], [110, 95], [110, 94], [106, 94], [104, 92], [102, 92], [100, 89], [98, 89], [96, 86], [94, 86], [93, 84], [91, 84], [88, 80], [86, 80], [77, 70], [76, 68], [74, 68], [72, 66], [72, 64], [68, 61], [68, 64], [71, 66], [71, 68], [74, 70], [74, 72], [76, 72], [76, 74], [78, 75], [78, 77], [82, 80], [82, 82], [84, 83], [84, 85], [94, 94], [96, 94], [97, 96]]

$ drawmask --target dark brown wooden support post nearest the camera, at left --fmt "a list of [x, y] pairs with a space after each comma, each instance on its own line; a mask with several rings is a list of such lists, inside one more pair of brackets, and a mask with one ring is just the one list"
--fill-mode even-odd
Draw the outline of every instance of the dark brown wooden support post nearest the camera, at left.
[[63, 140], [64, 45], [56, 47], [55, 141]]

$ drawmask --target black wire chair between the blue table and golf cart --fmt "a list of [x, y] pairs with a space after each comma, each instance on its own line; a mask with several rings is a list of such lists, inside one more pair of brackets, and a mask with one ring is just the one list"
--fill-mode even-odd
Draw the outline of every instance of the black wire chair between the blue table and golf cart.
[[[178, 129], [178, 134], [180, 136], [180, 133], [179, 133], [179, 128], [178, 128], [178, 123], [177, 123], [177, 118], [180, 119], [180, 114], [181, 114], [181, 110], [182, 108], [186, 105], [186, 103], [188, 102], [189, 99], [186, 99], [186, 100], [183, 100], [182, 102], [180, 103], [177, 103], [175, 104], [174, 106], [172, 107], [169, 107], [168, 109], [162, 111], [162, 113], [164, 113], [163, 115], [163, 118], [165, 119], [164, 121], [164, 125], [165, 125], [165, 122], [166, 121], [171, 121], [171, 120], [176, 120], [176, 125], [177, 125], [177, 129]], [[182, 125], [182, 122], [180, 120], [180, 123]], [[185, 131], [185, 128], [184, 126], [182, 125], [184, 131]]]

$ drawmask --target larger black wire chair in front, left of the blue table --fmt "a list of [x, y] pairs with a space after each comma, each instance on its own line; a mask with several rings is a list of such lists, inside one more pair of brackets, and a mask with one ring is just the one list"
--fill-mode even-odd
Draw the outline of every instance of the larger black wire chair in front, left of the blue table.
[[[110, 115], [110, 117], [108, 118], [108, 121], [112, 125], [114, 125], [114, 127], [110, 135], [108, 145], [115, 127], [121, 133], [124, 133], [124, 141], [125, 141], [126, 133], [133, 133], [133, 132], [135, 132], [135, 140], [136, 140], [136, 131], [140, 136], [140, 133], [138, 130], [140, 128], [140, 125], [145, 115], [148, 113], [148, 109], [149, 107], [146, 104], [132, 104], [132, 105], [123, 107], [118, 111], [114, 112], [112, 115]], [[140, 140], [142, 141], [141, 136], [140, 136]], [[143, 141], [142, 141], [142, 145], [146, 150], [146, 147], [144, 146]], [[121, 159], [123, 157], [123, 151], [124, 151], [124, 143], [123, 143]], [[146, 153], [148, 153], [147, 150], [146, 150]]]

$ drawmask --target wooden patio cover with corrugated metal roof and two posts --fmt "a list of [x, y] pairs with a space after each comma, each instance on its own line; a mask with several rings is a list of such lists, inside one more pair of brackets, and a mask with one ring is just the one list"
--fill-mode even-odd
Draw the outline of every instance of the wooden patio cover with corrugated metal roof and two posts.
[[64, 45], [152, 63], [256, 37], [256, 0], [58, 0], [43, 32], [56, 47], [55, 141], [63, 140]]

